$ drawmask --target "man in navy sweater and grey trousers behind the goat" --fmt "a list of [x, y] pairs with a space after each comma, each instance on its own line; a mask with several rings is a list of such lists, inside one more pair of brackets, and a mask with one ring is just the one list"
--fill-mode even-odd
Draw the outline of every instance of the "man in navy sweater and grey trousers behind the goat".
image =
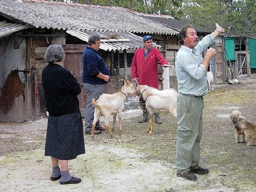
[[[97, 100], [104, 93], [106, 83], [109, 82], [109, 69], [103, 58], [98, 54], [101, 37], [99, 35], [91, 35], [88, 45], [83, 53], [83, 87], [87, 91], [86, 103], [86, 134], [91, 134], [91, 125], [94, 120], [94, 106], [91, 100]], [[94, 134], [99, 134], [106, 130], [99, 123], [95, 126]]]

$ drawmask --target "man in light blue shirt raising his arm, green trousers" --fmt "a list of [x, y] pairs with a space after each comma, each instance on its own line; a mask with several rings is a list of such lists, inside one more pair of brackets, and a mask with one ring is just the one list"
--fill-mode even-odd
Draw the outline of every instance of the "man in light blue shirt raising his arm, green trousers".
[[[216, 23], [216, 30], [199, 42], [197, 32], [190, 24], [180, 29], [181, 48], [177, 52], [175, 67], [178, 84], [177, 95], [177, 139], [176, 175], [188, 180], [196, 180], [194, 173], [203, 175], [209, 172], [201, 168], [200, 142], [202, 137], [202, 96], [209, 92], [207, 70], [209, 60], [216, 54], [209, 45], [214, 43], [225, 29]], [[202, 58], [202, 52], [207, 52]]]

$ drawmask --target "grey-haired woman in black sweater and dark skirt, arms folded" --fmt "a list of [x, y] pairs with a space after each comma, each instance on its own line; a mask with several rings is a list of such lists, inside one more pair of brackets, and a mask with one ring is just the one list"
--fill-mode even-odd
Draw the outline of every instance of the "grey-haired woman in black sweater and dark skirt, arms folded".
[[77, 98], [81, 87], [63, 67], [65, 53], [62, 45], [50, 45], [44, 59], [49, 62], [42, 70], [42, 87], [49, 112], [45, 156], [51, 157], [52, 161], [50, 179], [61, 179], [61, 184], [80, 183], [80, 178], [70, 175], [68, 160], [85, 153], [83, 120]]

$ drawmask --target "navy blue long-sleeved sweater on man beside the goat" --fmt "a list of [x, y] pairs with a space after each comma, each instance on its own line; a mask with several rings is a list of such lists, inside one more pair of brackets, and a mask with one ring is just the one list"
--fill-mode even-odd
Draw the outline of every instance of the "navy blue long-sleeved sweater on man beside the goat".
[[106, 66], [105, 61], [98, 52], [87, 46], [83, 52], [83, 74], [82, 74], [82, 81], [83, 83], [88, 84], [105, 84], [107, 83], [103, 79], [96, 77], [99, 72], [102, 74], [106, 74], [109, 76], [109, 69]]

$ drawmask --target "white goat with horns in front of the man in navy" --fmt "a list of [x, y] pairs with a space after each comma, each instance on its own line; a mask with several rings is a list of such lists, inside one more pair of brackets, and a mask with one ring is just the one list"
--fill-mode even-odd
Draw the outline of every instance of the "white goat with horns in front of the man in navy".
[[[95, 125], [98, 122], [100, 116], [105, 117], [105, 128], [108, 134], [113, 138], [114, 135], [112, 131], [115, 129], [116, 122], [116, 113], [118, 113], [119, 118], [119, 130], [122, 133], [122, 111], [125, 109], [125, 99], [128, 95], [136, 95], [136, 90], [133, 87], [133, 84], [126, 79], [121, 79], [125, 84], [121, 90], [114, 94], [102, 94], [99, 96], [97, 101], [93, 99], [91, 102], [95, 107], [94, 111], [94, 120], [91, 131], [91, 139], [94, 139], [94, 129]], [[109, 130], [109, 120], [113, 115], [113, 128], [112, 131]]]

